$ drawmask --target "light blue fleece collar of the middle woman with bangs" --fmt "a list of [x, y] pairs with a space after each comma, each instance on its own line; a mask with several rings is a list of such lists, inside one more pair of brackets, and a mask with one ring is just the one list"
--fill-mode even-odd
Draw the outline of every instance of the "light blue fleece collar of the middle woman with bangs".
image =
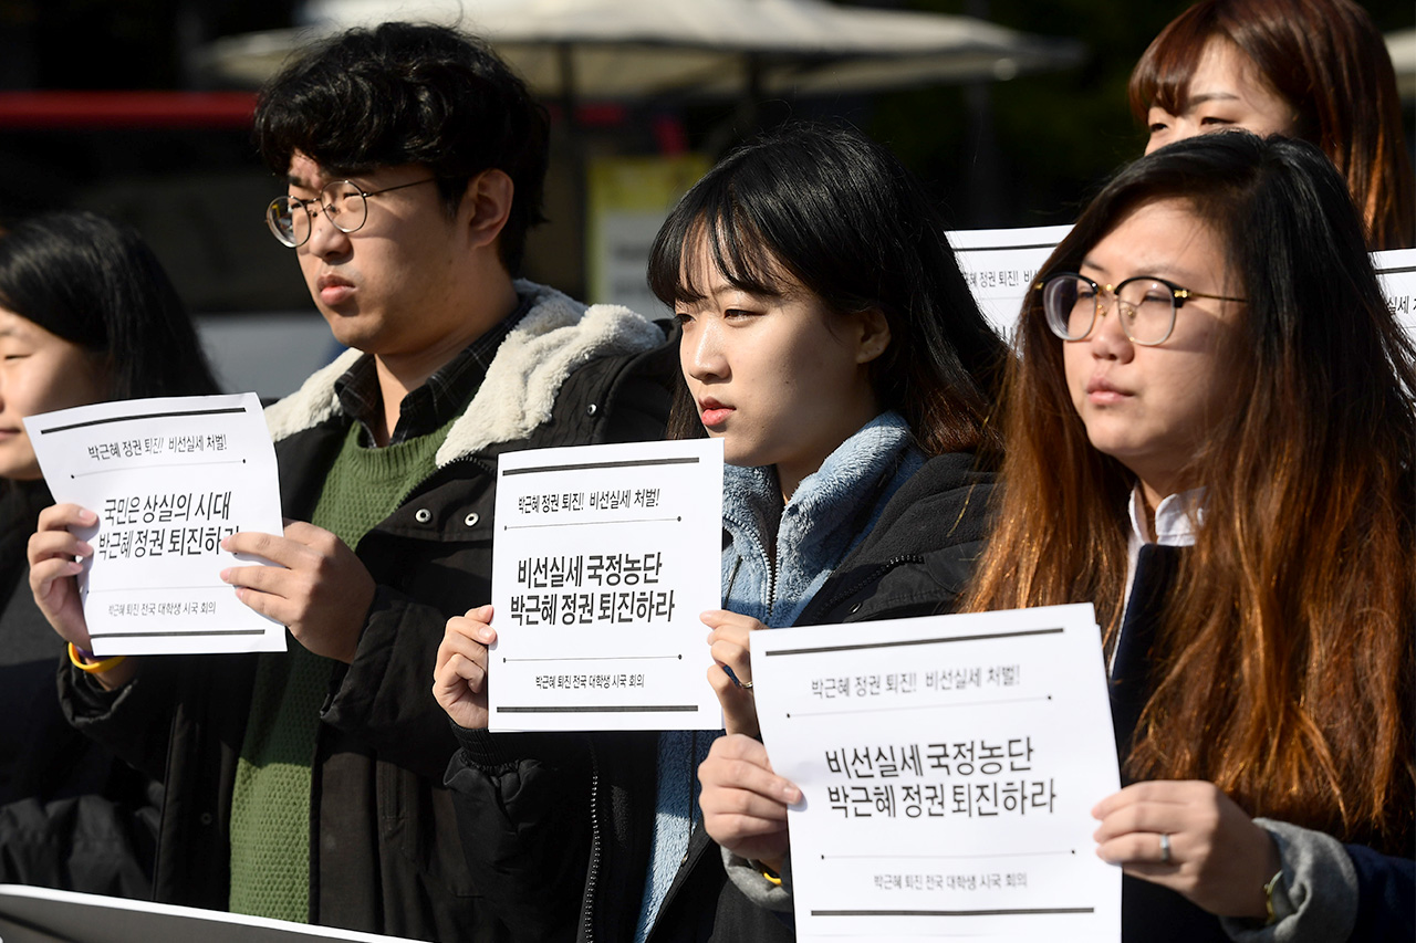
[[903, 416], [884, 412], [801, 479], [786, 507], [775, 469], [726, 466], [722, 525], [732, 545], [724, 552], [724, 605], [790, 626], [923, 462]]

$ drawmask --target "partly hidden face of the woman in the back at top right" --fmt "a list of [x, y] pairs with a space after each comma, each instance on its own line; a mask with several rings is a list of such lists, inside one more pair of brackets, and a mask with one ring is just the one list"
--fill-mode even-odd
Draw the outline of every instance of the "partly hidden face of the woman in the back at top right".
[[1185, 112], [1171, 115], [1164, 108], [1151, 108], [1146, 122], [1147, 154], [1185, 137], [1233, 127], [1260, 136], [1291, 136], [1297, 130], [1293, 106], [1263, 81], [1253, 59], [1222, 37], [1211, 38], [1199, 54]]

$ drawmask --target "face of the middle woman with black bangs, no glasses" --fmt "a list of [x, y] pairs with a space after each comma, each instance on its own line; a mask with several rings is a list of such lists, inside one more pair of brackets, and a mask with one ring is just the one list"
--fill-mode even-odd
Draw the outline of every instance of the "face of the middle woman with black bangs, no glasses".
[[698, 246], [701, 302], [677, 304], [680, 364], [729, 464], [776, 466], [784, 496], [878, 412], [867, 375], [889, 344], [878, 314], [840, 316], [790, 278], [783, 296], [733, 287]]

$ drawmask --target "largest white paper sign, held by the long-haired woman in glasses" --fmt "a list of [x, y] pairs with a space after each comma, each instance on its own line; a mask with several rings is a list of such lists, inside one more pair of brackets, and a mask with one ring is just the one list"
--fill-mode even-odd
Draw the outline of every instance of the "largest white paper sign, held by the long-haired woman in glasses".
[[799, 940], [1120, 939], [1120, 787], [1090, 605], [752, 637]]

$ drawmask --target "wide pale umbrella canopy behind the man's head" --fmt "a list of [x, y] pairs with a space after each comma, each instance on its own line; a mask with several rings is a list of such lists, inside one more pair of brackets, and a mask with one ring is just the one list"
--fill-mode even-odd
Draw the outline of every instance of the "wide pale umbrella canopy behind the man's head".
[[861, 92], [1007, 79], [1080, 59], [1073, 40], [983, 20], [824, 0], [313, 0], [307, 27], [228, 37], [200, 59], [258, 84], [302, 45], [415, 20], [486, 37], [542, 96], [640, 99]]

